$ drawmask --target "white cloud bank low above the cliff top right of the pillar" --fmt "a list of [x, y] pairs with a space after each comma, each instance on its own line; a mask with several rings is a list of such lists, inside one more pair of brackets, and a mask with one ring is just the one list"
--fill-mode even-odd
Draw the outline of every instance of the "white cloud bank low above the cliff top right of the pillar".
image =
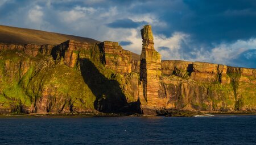
[[[172, 45], [172, 47], [174, 48], [170, 47], [169, 50], [160, 50], [159, 52], [162, 53], [164, 58], [168, 58], [171, 60], [179, 59], [234, 65], [236, 64], [236, 62], [233, 62], [233, 60], [237, 59], [243, 52], [249, 49], [256, 48], [256, 39], [237, 40], [234, 43], [215, 44], [213, 48], [205, 48], [195, 45], [193, 44], [193, 42], [189, 42], [189, 37], [187, 36], [185, 36], [184, 38], [180, 37], [179, 35], [176, 36], [176, 38], [174, 39], [174, 45]], [[191, 47], [189, 50], [187, 50], [187, 54], [177, 51], [179, 49], [183, 49], [181, 45], [179, 45], [181, 42], [180, 40], [182, 40], [183, 43], [187, 43], [187, 45]], [[247, 53], [245, 57], [249, 59], [254, 55], [254, 53]]]

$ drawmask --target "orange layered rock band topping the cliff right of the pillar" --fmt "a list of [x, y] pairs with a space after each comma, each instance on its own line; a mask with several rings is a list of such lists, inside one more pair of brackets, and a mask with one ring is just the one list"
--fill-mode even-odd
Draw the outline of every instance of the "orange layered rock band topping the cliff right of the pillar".
[[166, 76], [174, 74], [183, 78], [191, 78], [198, 82], [220, 82], [222, 85], [229, 84], [227, 66], [221, 64], [164, 60], [162, 61], [162, 72]]

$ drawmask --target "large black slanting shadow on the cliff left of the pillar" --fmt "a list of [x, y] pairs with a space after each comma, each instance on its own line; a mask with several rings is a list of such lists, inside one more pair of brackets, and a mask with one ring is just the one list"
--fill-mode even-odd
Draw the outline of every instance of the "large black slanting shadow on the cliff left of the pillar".
[[[79, 61], [82, 77], [96, 96], [94, 109], [105, 113], [133, 111], [130, 107], [133, 105], [127, 103], [118, 81], [106, 78], [89, 59]], [[115, 74], [112, 75], [114, 77]]]

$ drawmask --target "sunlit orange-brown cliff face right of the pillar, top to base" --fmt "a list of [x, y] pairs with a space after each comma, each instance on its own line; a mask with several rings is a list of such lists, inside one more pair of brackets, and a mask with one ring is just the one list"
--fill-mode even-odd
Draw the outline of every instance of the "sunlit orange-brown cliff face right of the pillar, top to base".
[[[162, 61], [162, 89], [177, 109], [255, 110], [255, 69], [226, 65]], [[249, 101], [250, 100], [250, 101]]]

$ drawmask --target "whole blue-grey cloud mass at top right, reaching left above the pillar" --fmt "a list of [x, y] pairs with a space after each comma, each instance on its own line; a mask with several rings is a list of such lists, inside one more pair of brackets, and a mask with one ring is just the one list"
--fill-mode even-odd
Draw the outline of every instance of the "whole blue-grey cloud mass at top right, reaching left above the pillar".
[[[152, 13], [167, 23], [156, 34], [191, 34], [201, 43], [231, 42], [256, 37], [256, 1], [148, 1], [130, 13]], [[154, 24], [152, 24], [154, 25]]]

